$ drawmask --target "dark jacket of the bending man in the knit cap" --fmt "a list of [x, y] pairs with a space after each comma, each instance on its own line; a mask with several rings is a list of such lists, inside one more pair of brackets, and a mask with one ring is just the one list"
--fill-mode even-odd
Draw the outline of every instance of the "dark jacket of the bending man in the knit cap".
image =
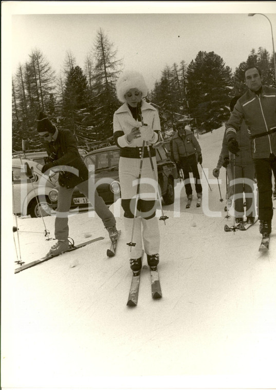
[[88, 169], [80, 156], [75, 135], [70, 130], [59, 129], [57, 140], [44, 143], [44, 147], [48, 161], [55, 167], [59, 166], [59, 184], [62, 187], [73, 188], [88, 180]]

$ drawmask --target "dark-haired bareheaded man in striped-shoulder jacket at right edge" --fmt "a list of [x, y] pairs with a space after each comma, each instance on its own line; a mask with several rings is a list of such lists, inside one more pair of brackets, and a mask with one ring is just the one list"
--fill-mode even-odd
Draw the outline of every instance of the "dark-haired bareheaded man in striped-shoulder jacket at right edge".
[[276, 88], [262, 85], [259, 68], [245, 69], [248, 90], [237, 100], [226, 124], [228, 150], [240, 152], [237, 134], [245, 121], [252, 141], [253, 163], [259, 192], [258, 214], [260, 233], [271, 233], [272, 166], [276, 162]]

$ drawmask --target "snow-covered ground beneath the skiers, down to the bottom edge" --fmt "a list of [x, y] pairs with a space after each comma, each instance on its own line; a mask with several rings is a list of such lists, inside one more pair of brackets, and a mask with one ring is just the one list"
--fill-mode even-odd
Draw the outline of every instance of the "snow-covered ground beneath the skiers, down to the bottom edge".
[[[275, 387], [275, 218], [269, 253], [258, 251], [259, 222], [224, 231], [233, 224], [224, 218], [225, 169], [223, 203], [212, 176], [223, 131], [199, 135], [212, 189], [200, 168], [203, 206], [193, 201], [186, 209], [179, 182], [175, 204], [163, 205], [162, 299], [152, 300], [144, 268], [138, 306], [126, 306], [132, 272], [120, 202], [111, 206], [122, 229], [114, 258], [106, 257], [107, 232], [90, 213], [70, 216], [69, 235], [75, 244], [101, 241], [18, 274], [14, 248], [4, 252], [3, 389]], [[42, 220], [17, 222], [22, 259], [44, 256], [53, 241], [45, 240]], [[45, 223], [53, 237], [54, 217]]]

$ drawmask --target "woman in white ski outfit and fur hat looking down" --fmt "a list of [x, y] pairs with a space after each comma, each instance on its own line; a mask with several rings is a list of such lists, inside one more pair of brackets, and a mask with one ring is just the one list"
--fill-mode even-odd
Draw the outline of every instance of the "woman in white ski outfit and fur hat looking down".
[[[117, 81], [116, 89], [118, 99], [123, 103], [114, 113], [113, 119], [114, 140], [120, 147], [121, 205], [124, 210], [127, 243], [136, 244], [128, 246], [131, 269], [134, 274], [139, 274], [142, 266], [143, 246], [148, 264], [152, 268], [156, 267], [159, 262], [160, 246], [158, 219], [155, 216], [156, 186], [158, 183], [154, 180], [146, 145], [144, 146], [140, 190], [137, 210], [135, 211], [142, 147], [144, 141], [148, 142], [157, 180], [154, 147], [160, 145], [162, 136], [157, 110], [142, 100], [142, 97], [148, 94], [143, 76], [138, 72], [124, 72]], [[142, 121], [144, 126], [142, 126]]]

